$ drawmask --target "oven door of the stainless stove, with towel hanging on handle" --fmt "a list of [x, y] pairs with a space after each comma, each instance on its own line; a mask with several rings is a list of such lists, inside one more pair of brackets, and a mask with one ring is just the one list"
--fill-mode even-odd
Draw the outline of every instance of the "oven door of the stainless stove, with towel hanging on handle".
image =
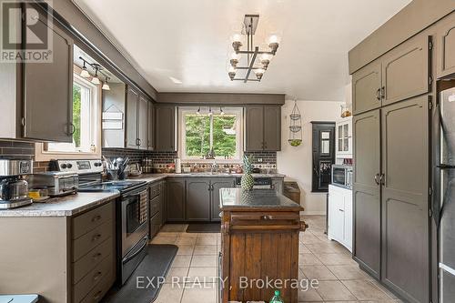
[[148, 233], [148, 190], [121, 197], [122, 258]]

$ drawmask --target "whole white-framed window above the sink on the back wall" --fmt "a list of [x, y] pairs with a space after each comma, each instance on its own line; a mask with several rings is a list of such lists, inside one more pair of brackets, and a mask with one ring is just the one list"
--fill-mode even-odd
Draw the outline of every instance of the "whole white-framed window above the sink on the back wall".
[[[242, 108], [186, 107], [179, 110], [182, 159], [240, 160], [242, 153]], [[213, 154], [213, 155], [212, 155]]]

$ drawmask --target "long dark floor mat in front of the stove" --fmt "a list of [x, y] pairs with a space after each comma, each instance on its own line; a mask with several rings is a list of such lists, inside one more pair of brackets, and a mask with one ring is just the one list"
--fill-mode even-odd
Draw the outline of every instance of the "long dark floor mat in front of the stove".
[[[164, 277], [177, 255], [178, 247], [167, 244], [150, 244], [144, 260], [126, 280], [122, 288], [112, 288], [102, 302], [150, 303], [158, 297]], [[161, 279], [161, 283], [158, 281]]]

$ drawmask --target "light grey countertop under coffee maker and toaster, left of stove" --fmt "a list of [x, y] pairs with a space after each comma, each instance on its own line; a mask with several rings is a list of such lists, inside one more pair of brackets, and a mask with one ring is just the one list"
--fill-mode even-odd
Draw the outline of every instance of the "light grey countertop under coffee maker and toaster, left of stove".
[[35, 202], [26, 207], [0, 210], [0, 217], [71, 217], [120, 196], [118, 191], [77, 193]]

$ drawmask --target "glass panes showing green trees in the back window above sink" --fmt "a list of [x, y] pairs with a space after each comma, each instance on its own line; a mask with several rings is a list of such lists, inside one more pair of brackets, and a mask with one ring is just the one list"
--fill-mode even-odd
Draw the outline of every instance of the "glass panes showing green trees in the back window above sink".
[[236, 115], [185, 115], [187, 157], [234, 157], [237, 151]]

